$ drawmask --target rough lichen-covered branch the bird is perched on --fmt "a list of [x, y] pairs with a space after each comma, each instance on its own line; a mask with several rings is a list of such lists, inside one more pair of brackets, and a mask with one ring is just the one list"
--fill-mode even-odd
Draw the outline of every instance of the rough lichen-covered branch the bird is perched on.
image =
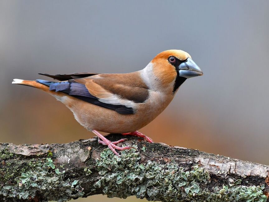
[[97, 138], [0, 143], [0, 201], [66, 201], [95, 194], [150, 201], [268, 201], [269, 166], [136, 137], [128, 136], [124, 144], [136, 148], [121, 151], [119, 158]]

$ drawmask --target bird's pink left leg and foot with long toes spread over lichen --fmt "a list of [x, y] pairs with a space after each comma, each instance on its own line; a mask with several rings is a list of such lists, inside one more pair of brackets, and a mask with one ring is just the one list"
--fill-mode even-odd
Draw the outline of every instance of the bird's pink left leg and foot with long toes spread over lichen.
[[98, 143], [102, 144], [102, 145], [107, 145], [108, 148], [110, 148], [114, 154], [116, 154], [117, 156], [120, 156], [118, 152], [116, 152], [115, 149], [117, 150], [125, 150], [125, 149], [130, 149], [130, 148], [134, 148], [134, 147], [118, 147], [116, 146], [116, 144], [120, 143], [120, 142], [124, 142], [125, 140], [127, 140], [126, 138], [125, 139], [120, 139], [116, 142], [111, 142], [110, 140], [106, 139], [104, 136], [102, 136], [102, 134], [96, 130], [92, 130], [92, 132], [94, 134], [97, 135], [98, 137]]

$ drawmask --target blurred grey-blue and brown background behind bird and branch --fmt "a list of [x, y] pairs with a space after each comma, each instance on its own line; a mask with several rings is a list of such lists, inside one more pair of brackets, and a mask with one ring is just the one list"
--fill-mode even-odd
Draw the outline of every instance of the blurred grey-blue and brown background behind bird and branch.
[[[126, 73], [189, 52], [188, 79], [140, 132], [155, 142], [269, 164], [269, 1], [0, 1], [0, 142], [92, 137], [53, 97], [13, 78]], [[77, 201], [121, 201], [92, 196]], [[122, 200], [124, 201], [124, 200]], [[130, 197], [128, 201], [139, 201]]]

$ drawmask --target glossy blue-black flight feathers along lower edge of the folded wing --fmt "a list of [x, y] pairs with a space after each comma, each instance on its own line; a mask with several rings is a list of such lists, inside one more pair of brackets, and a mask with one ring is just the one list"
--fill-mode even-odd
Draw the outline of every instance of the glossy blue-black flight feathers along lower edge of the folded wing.
[[68, 95], [71, 95], [85, 102], [114, 110], [120, 114], [133, 114], [134, 113], [133, 108], [126, 107], [124, 105], [113, 105], [113, 104], [100, 102], [97, 97], [89, 93], [88, 89], [86, 88], [84, 84], [78, 83], [73, 80], [64, 81], [64, 82], [53, 82], [53, 81], [37, 79], [36, 82], [49, 86], [50, 90], [55, 90], [56, 92], [60, 91], [60, 92], [66, 93]]

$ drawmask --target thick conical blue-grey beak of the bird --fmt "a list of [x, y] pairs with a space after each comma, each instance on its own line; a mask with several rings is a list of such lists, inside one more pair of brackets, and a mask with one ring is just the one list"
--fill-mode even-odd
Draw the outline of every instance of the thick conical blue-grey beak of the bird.
[[185, 77], [187, 79], [203, 75], [203, 72], [200, 67], [198, 67], [198, 65], [196, 65], [195, 62], [191, 60], [191, 58], [188, 58], [186, 62], [182, 62], [178, 66], [178, 72], [179, 76]]

